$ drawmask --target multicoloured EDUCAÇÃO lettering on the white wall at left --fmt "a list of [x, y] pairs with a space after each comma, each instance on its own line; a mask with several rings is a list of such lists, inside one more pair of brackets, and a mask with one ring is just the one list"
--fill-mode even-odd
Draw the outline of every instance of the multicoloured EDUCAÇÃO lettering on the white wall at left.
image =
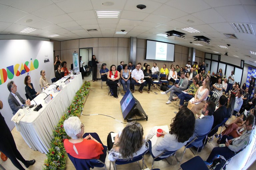
[[23, 75], [25, 73], [28, 73], [32, 70], [35, 70], [38, 68], [39, 66], [39, 62], [37, 59], [35, 59], [34, 61], [32, 61], [32, 59], [30, 59], [30, 67], [29, 67], [29, 62], [26, 61], [24, 64], [21, 63], [20, 64], [16, 64], [16, 65], [12, 65], [12, 66], [8, 66], [6, 67], [6, 69], [0, 69], [0, 85], [4, 84], [7, 80], [7, 78], [9, 80], [12, 80], [14, 75], [15, 76], [20, 76]]

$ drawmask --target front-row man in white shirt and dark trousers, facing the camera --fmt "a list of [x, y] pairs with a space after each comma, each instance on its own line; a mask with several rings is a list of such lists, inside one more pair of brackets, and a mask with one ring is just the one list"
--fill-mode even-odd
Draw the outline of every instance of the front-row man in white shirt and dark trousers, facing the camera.
[[140, 65], [136, 65], [136, 69], [132, 71], [132, 92], [134, 92], [134, 85], [136, 83], [139, 83], [141, 81], [142, 83], [140, 84], [139, 92], [142, 93], [143, 87], [146, 85], [145, 82], [143, 82], [144, 79], [144, 74], [143, 71], [140, 69]]

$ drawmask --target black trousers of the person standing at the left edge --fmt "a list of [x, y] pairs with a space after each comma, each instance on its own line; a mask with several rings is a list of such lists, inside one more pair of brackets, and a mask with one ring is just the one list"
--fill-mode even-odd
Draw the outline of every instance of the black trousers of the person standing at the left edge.
[[20, 152], [18, 151], [12, 133], [8, 128], [1, 113], [0, 129], [0, 136], [2, 136], [0, 140], [0, 151], [3, 152], [11, 160], [16, 168], [20, 170], [25, 170], [18, 160], [20, 160], [23, 164], [26, 164], [26, 160], [21, 156]]

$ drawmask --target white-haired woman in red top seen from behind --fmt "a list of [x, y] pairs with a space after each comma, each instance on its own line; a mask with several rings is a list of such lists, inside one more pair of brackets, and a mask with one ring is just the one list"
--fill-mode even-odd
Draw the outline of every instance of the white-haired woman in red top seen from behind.
[[99, 159], [103, 154], [103, 144], [97, 133], [83, 138], [84, 125], [76, 116], [69, 117], [63, 123], [64, 129], [71, 139], [64, 140], [64, 148], [71, 156], [78, 159]]

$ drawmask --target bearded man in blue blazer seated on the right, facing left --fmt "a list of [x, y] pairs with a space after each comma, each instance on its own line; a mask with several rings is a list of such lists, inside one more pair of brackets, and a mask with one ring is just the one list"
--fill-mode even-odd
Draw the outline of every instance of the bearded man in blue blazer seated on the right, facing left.
[[[205, 135], [211, 131], [214, 119], [212, 114], [214, 113], [215, 107], [216, 104], [214, 102], [207, 101], [202, 110], [204, 117], [196, 119], [194, 133], [189, 141], [192, 141], [195, 137]], [[204, 140], [193, 142], [192, 145], [195, 147], [201, 147], [203, 145], [203, 141]]]

